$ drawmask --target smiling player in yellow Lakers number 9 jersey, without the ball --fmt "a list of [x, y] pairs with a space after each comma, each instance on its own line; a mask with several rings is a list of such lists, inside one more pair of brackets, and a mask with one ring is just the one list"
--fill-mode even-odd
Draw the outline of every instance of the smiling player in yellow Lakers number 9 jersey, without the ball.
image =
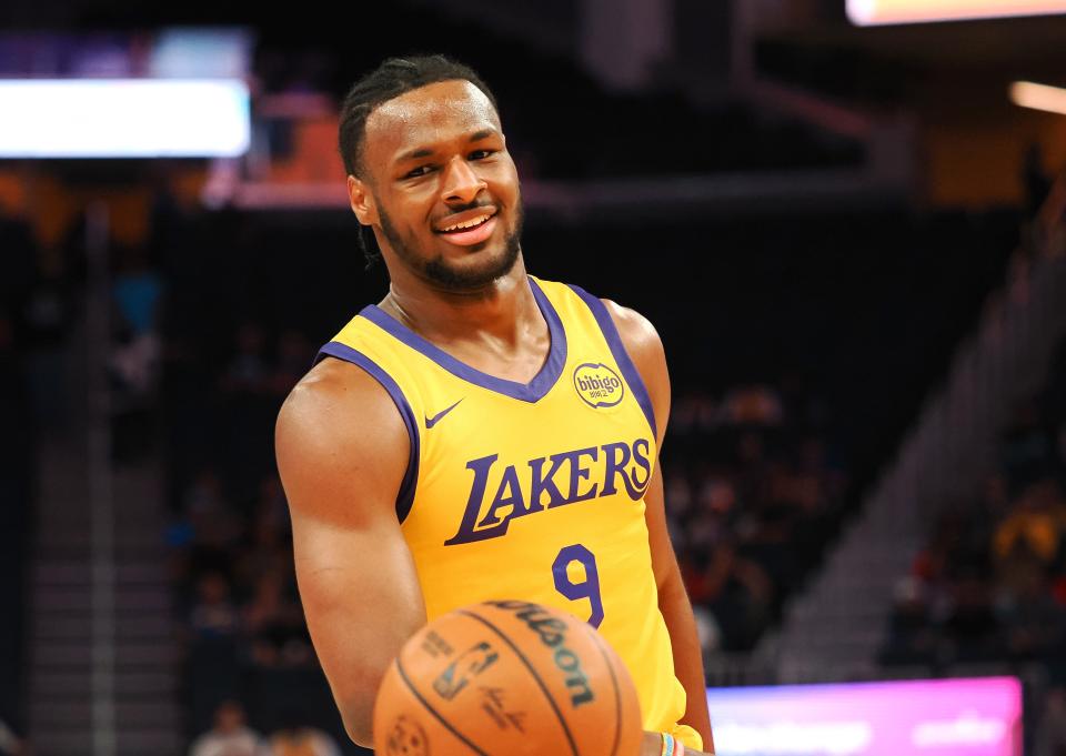
[[519, 177], [472, 70], [386, 60], [345, 98], [340, 143], [389, 293], [322, 347], [276, 454], [349, 735], [372, 744], [381, 677], [428, 619], [522, 598], [587, 619], [626, 663], [647, 730], [628, 756], [675, 739], [713, 753], [663, 513], [670, 383], [652, 324], [526, 273]]

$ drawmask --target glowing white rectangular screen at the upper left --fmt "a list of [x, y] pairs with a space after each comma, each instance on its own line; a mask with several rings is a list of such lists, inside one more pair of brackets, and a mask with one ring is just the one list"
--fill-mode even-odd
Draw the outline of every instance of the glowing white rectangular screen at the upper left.
[[232, 158], [248, 150], [238, 79], [2, 79], [0, 158]]

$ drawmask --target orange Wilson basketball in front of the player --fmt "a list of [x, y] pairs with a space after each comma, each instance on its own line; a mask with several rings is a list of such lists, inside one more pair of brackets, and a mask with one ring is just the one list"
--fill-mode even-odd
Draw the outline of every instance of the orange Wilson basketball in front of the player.
[[522, 601], [472, 604], [416, 633], [374, 706], [381, 756], [634, 756], [636, 689], [590, 625]]

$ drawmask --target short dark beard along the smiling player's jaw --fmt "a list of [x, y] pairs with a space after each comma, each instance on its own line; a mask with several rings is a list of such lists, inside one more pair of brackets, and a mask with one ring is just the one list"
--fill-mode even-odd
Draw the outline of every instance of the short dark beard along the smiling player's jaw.
[[[463, 210], [469, 209], [464, 208]], [[521, 199], [515, 205], [514, 229], [503, 240], [503, 252], [473, 266], [454, 265], [447, 262], [443, 254], [428, 258], [410, 234], [405, 238], [396, 230], [392, 219], [389, 218], [380, 202], [378, 203], [378, 212], [381, 219], [381, 232], [389, 240], [389, 244], [396, 256], [419, 278], [446, 291], [473, 292], [484, 289], [496, 279], [510, 273], [519, 260], [519, 253], [522, 251], [522, 223], [525, 212]], [[489, 241], [482, 242], [482, 244], [486, 243]], [[472, 249], [476, 249], [476, 246], [479, 245], [474, 245]]]

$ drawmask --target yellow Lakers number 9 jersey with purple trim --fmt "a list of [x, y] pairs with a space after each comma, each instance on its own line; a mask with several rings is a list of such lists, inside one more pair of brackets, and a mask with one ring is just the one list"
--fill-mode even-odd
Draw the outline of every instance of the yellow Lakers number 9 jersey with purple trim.
[[411, 436], [396, 501], [430, 619], [521, 598], [587, 621], [636, 684], [644, 728], [701, 748], [678, 725], [652, 572], [644, 491], [655, 416], [604, 304], [529, 276], [551, 351], [526, 384], [477, 371], [370, 305], [322, 347], [390, 393]]

